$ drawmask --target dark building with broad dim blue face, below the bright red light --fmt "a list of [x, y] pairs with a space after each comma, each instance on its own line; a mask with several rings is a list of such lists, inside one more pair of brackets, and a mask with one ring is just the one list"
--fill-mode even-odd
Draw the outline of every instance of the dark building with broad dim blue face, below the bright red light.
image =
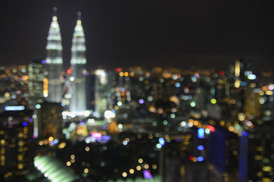
[[[216, 129], [208, 139], [208, 174], [211, 181], [238, 181], [239, 138], [224, 129]], [[245, 163], [241, 163], [246, 168]]]

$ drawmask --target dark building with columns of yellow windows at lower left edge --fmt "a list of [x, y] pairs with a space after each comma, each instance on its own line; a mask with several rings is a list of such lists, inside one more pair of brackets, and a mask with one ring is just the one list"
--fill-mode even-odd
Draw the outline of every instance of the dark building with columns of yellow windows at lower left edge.
[[32, 111], [0, 114], [0, 179], [14, 180], [16, 176], [27, 174], [32, 167], [32, 122]]

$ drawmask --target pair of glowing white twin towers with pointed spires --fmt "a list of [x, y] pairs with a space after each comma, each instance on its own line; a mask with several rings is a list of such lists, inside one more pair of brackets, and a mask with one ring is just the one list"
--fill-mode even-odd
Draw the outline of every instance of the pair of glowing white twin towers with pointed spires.
[[[56, 8], [53, 8], [54, 12]], [[82, 27], [81, 12], [73, 33], [71, 47], [71, 102], [70, 111], [75, 115], [81, 115], [86, 111], [86, 45], [85, 35]], [[57, 16], [53, 16], [49, 36], [47, 37], [47, 79], [48, 93], [44, 93], [48, 102], [62, 102], [64, 91], [62, 89], [62, 38]]]

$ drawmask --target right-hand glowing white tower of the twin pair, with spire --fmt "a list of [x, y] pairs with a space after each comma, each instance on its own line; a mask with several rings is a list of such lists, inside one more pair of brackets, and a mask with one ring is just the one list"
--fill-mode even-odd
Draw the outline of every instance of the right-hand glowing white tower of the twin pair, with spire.
[[78, 20], [73, 33], [73, 43], [71, 47], [72, 66], [72, 96], [70, 111], [75, 114], [86, 111], [86, 45], [85, 35], [81, 22], [81, 12], [78, 12]]

